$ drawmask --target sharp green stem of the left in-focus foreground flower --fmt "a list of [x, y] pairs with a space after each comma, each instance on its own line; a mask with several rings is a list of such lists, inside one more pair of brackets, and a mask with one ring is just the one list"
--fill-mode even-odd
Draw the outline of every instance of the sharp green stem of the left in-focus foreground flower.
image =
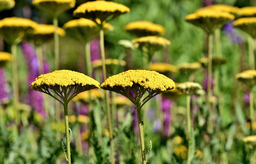
[[65, 120], [65, 132], [66, 132], [67, 158], [68, 158], [68, 164], [71, 164], [69, 128], [68, 128], [68, 103], [64, 102], [63, 107], [64, 107], [64, 120]]

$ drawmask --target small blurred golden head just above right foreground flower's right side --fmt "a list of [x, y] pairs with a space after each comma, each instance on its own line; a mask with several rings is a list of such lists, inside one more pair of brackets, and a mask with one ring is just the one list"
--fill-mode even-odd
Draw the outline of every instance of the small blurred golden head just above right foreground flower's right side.
[[155, 62], [150, 65], [150, 70], [156, 71], [159, 73], [166, 73], [166, 72], [178, 72], [177, 66], [168, 63], [162, 62]]

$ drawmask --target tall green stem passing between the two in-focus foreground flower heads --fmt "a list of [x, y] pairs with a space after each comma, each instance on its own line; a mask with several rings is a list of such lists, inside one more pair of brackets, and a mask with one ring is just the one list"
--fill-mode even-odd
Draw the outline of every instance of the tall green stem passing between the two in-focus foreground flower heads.
[[[106, 63], [105, 63], [105, 48], [104, 48], [104, 30], [103, 27], [100, 28], [100, 54], [102, 60], [102, 70], [103, 70], [103, 78], [104, 80], [107, 79], [107, 72], [106, 72]], [[110, 98], [109, 98], [109, 91], [105, 91], [105, 98], [106, 98], [106, 112], [107, 112], [107, 119], [108, 119], [108, 130], [109, 130], [109, 137], [110, 137], [110, 156], [111, 156], [111, 164], [115, 164], [115, 155], [114, 155], [114, 142], [113, 142], [113, 130], [112, 130], [112, 122], [111, 122], [111, 112], [110, 112]]]

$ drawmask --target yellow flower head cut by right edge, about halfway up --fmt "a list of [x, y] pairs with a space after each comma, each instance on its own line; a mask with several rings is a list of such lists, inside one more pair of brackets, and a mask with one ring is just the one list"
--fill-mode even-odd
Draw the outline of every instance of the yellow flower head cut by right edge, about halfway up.
[[236, 79], [252, 88], [256, 84], [256, 70], [245, 70], [236, 74]]

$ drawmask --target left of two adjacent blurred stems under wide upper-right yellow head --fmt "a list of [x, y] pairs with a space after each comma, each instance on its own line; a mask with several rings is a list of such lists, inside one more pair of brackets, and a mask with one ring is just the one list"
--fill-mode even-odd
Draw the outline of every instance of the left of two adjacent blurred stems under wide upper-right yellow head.
[[212, 96], [212, 89], [211, 89], [211, 79], [212, 79], [212, 38], [213, 35], [208, 35], [208, 79], [207, 79], [207, 109], [210, 111], [211, 104], [210, 104], [210, 97]]

